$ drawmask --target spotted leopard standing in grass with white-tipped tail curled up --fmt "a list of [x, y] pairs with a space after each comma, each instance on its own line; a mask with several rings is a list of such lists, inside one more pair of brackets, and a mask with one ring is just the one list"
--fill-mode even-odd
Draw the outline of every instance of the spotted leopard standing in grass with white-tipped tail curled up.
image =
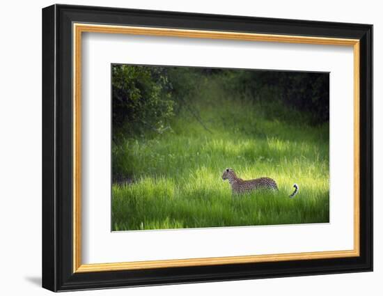
[[[238, 178], [235, 174], [235, 171], [231, 168], [225, 169], [222, 174], [222, 180], [228, 180], [231, 186], [231, 192], [233, 195], [249, 193], [258, 189], [271, 189], [274, 191], [278, 191], [278, 186], [276, 185], [275, 180], [268, 177], [261, 177], [253, 180], [242, 180]], [[294, 187], [294, 192], [289, 195], [290, 198], [293, 198], [297, 195], [299, 187], [295, 183], [292, 185]]]

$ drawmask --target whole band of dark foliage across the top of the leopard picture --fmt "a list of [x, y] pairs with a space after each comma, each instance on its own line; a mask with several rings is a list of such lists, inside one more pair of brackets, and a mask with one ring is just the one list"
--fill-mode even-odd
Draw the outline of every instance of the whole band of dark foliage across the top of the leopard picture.
[[285, 105], [306, 112], [306, 123], [329, 120], [329, 75], [325, 73], [113, 65], [112, 86], [115, 142], [169, 130], [170, 119], [185, 108], [199, 118], [195, 98], [211, 88], [224, 97], [274, 102], [279, 107], [265, 109], [272, 111], [271, 117], [278, 116], [276, 109]]

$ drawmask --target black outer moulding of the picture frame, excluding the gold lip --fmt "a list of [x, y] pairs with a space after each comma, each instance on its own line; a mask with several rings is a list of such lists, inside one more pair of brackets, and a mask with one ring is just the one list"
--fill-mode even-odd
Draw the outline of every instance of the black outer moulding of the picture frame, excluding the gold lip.
[[[360, 40], [359, 257], [72, 272], [72, 22]], [[42, 9], [42, 287], [53, 291], [373, 270], [373, 26], [56, 4]]]

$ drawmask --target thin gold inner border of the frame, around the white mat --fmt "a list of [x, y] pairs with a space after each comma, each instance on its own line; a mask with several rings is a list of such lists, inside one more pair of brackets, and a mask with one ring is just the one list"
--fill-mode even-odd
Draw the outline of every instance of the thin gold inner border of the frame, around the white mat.
[[[112, 270], [139, 270], [163, 267], [260, 263], [320, 258], [359, 256], [359, 40], [286, 36], [228, 31], [199, 31], [186, 29], [148, 28], [139, 26], [111, 26], [102, 24], [73, 24], [73, 272], [105, 272]], [[302, 43], [314, 45], [343, 45], [354, 49], [354, 249], [345, 251], [316, 251], [291, 254], [187, 258], [176, 260], [150, 260], [122, 263], [81, 263], [81, 33], [118, 33], [146, 36], [173, 36], [183, 38], [210, 38], [262, 42]]]

